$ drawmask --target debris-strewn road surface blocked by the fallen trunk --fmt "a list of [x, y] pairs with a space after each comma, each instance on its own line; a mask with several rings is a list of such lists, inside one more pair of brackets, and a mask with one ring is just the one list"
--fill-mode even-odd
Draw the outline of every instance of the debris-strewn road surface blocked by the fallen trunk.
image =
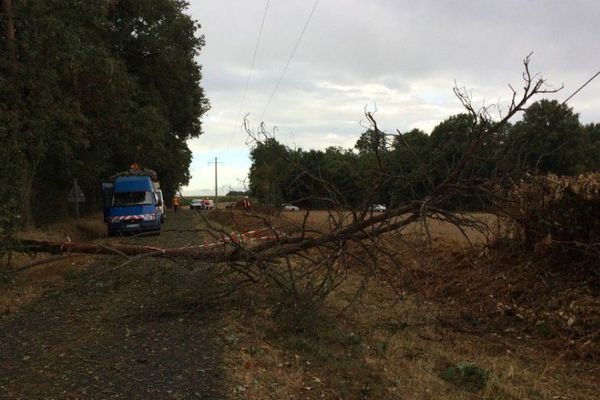
[[[200, 223], [182, 210], [164, 228]], [[164, 232], [111, 240], [173, 246], [200, 239]], [[223, 397], [220, 312], [202, 303], [210, 282], [198, 268], [148, 258], [107, 272], [123, 259], [76, 262], [64, 284], [0, 317], [1, 399]]]

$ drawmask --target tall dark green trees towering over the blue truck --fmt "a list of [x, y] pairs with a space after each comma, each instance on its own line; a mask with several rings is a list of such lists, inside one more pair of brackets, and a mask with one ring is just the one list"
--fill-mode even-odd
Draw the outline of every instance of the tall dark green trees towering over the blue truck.
[[97, 209], [101, 180], [132, 162], [158, 172], [167, 198], [187, 183], [186, 140], [209, 105], [196, 61], [204, 38], [186, 2], [4, 5], [0, 136], [15, 172], [0, 191], [26, 222], [64, 215], [73, 178]]

